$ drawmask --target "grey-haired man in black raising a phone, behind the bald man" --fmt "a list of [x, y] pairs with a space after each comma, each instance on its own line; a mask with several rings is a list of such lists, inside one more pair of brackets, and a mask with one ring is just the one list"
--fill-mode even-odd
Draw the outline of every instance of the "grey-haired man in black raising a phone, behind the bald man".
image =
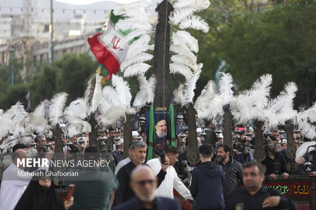
[[[130, 152], [131, 152], [132, 160], [129, 163], [127, 163], [125, 166], [123, 166], [116, 175], [119, 181], [119, 187], [115, 191], [113, 205], [119, 205], [135, 197], [135, 193], [131, 190], [129, 186], [130, 174], [134, 168], [144, 164], [145, 158], [146, 158], [146, 152], [147, 152], [147, 144], [144, 143], [143, 141], [134, 141], [131, 144]], [[161, 165], [162, 165], [162, 169], [157, 174], [158, 187], [165, 179], [165, 176], [167, 173], [166, 170], [169, 166], [169, 159], [165, 157], [165, 163], [162, 163]]]

